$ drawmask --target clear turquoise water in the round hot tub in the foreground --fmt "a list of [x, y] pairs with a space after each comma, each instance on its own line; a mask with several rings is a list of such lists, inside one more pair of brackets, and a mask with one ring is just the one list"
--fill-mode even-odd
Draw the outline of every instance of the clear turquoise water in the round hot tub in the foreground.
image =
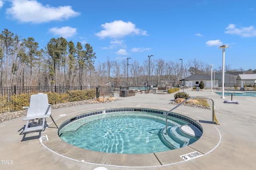
[[178, 138], [166, 143], [162, 137], [165, 121], [165, 115], [155, 113], [105, 113], [74, 121], [63, 127], [59, 135], [63, 141], [77, 147], [123, 154], [163, 152], [190, 145], [199, 139], [180, 132], [179, 127], [190, 123], [170, 117], [168, 133], [170, 131], [172, 135], [168, 134], [168, 137]]

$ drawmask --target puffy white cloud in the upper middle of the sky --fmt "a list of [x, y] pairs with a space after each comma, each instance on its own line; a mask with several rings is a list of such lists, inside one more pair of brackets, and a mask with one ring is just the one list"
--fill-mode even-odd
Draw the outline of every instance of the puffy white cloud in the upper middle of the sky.
[[147, 35], [146, 31], [136, 28], [136, 25], [130, 21], [113, 21], [102, 24], [101, 27], [104, 30], [95, 33], [95, 35], [100, 38], [122, 38], [127, 35]]

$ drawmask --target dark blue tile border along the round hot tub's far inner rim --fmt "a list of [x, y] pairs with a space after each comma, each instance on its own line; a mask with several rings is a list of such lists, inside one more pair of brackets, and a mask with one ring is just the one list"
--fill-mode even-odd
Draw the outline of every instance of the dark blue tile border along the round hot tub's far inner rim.
[[[167, 112], [166, 111], [160, 111], [160, 110], [154, 110], [154, 109], [139, 109], [139, 108], [124, 108], [124, 109], [108, 109], [108, 110], [101, 110], [101, 111], [95, 111], [95, 112], [91, 112], [91, 113], [84, 113], [82, 115], [78, 115], [76, 117], [73, 117], [67, 121], [65, 121], [64, 123], [62, 123], [59, 127], [58, 132], [65, 127], [66, 125], [68, 125], [69, 123], [76, 121], [78, 119], [82, 119], [84, 117], [88, 117], [91, 115], [98, 115], [98, 114], [102, 114], [102, 113], [111, 113], [111, 112], [118, 112], [118, 111], [141, 111], [141, 112], [146, 112], [146, 113], [157, 113], [157, 114], [161, 114], [161, 115], [165, 115]], [[181, 119], [183, 121], [186, 121], [192, 125], [194, 125], [195, 127], [197, 127], [201, 132], [203, 132], [203, 129], [201, 127], [200, 124], [198, 124], [196, 121], [190, 119], [189, 117], [177, 114], [177, 113], [169, 113], [168, 116], [170, 117], [175, 117], [178, 119]]]

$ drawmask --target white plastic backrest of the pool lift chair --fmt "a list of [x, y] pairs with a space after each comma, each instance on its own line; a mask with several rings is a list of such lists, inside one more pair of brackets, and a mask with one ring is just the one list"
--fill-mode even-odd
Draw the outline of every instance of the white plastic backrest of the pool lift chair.
[[49, 113], [48, 96], [47, 94], [32, 94], [30, 96], [30, 104], [27, 114], [33, 116], [46, 115]]

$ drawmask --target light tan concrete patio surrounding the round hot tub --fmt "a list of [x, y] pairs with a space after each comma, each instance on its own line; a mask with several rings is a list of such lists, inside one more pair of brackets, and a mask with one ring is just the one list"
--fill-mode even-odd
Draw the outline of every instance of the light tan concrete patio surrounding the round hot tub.
[[[51, 119], [42, 133], [22, 134], [25, 121], [19, 117], [0, 123], [0, 169], [75, 169], [94, 170], [170, 170], [170, 169], [256, 169], [256, 97], [233, 96], [240, 104], [226, 104], [225, 99], [210, 90], [191, 91], [190, 96], [212, 98], [216, 106], [216, 118], [220, 125], [212, 124], [212, 111], [180, 106], [173, 112], [188, 116], [203, 127], [202, 137], [184, 148], [151, 154], [110, 154], [74, 147], [58, 137], [58, 129]], [[221, 92], [221, 91], [218, 91]], [[87, 104], [52, 110], [52, 117], [59, 126], [67, 119], [86, 112], [132, 107], [169, 111], [175, 105], [173, 94], [136, 94], [110, 103]], [[65, 115], [65, 116], [63, 116]], [[40, 141], [47, 135], [48, 141]], [[203, 156], [184, 160], [180, 156], [199, 151]]]

